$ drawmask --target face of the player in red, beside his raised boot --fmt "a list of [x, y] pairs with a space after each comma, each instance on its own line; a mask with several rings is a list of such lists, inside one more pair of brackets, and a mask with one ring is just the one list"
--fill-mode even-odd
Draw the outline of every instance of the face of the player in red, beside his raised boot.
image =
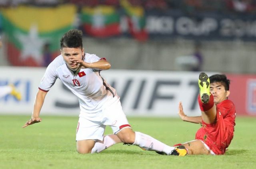
[[213, 95], [214, 103], [218, 104], [223, 100], [226, 100], [230, 91], [226, 91], [224, 85], [220, 82], [214, 82], [210, 84], [210, 92]]

